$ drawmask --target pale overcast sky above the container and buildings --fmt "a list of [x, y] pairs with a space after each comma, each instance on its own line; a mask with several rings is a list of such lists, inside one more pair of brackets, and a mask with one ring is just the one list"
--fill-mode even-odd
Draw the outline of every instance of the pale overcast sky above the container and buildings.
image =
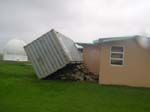
[[78, 42], [150, 32], [150, 0], [0, 0], [0, 51], [50, 29]]

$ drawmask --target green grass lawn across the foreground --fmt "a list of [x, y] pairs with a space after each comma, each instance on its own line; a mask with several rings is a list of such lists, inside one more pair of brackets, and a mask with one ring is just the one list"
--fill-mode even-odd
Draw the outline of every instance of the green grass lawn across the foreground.
[[31, 65], [0, 62], [0, 112], [149, 111], [149, 88], [39, 80]]

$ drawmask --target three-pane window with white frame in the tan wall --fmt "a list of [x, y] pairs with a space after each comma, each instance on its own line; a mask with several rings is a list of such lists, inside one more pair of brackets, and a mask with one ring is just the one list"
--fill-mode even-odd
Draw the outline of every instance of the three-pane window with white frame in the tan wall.
[[110, 62], [112, 65], [123, 65], [124, 64], [124, 47], [112, 46]]

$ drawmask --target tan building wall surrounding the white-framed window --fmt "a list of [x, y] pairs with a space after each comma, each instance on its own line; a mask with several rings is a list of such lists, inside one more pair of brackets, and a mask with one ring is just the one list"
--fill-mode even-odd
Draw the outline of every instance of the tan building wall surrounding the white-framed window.
[[[125, 47], [123, 66], [110, 64], [112, 45]], [[135, 40], [103, 45], [100, 65], [100, 84], [150, 87], [150, 49], [142, 48]]]

